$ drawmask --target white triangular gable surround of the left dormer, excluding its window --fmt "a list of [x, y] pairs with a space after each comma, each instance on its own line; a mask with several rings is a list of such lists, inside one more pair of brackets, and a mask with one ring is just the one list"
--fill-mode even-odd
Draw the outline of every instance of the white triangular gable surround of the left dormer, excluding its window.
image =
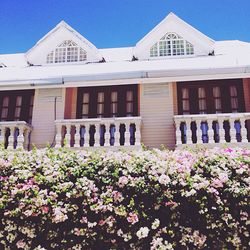
[[86, 51], [86, 62], [98, 62], [102, 60], [98, 49], [91, 42], [75, 31], [66, 22], [61, 21], [26, 53], [27, 61], [34, 65], [45, 64], [47, 55], [67, 40], [74, 42]]

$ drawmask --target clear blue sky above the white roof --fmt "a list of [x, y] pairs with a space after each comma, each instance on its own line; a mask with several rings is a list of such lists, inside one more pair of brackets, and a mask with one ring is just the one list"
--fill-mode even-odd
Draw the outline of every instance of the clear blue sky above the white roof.
[[250, 42], [250, 0], [0, 0], [0, 54], [27, 51], [61, 20], [97, 48], [133, 46], [171, 11], [215, 40]]

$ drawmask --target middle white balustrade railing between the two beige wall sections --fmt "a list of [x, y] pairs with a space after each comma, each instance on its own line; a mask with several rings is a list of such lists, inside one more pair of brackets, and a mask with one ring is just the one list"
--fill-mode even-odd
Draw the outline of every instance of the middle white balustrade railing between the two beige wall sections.
[[141, 145], [141, 117], [56, 120], [55, 147]]

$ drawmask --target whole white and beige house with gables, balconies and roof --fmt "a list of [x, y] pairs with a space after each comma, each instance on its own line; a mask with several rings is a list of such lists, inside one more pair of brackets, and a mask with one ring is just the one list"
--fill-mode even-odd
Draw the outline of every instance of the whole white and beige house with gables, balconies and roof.
[[6, 148], [248, 146], [250, 43], [170, 13], [134, 47], [98, 49], [65, 22], [0, 55]]

